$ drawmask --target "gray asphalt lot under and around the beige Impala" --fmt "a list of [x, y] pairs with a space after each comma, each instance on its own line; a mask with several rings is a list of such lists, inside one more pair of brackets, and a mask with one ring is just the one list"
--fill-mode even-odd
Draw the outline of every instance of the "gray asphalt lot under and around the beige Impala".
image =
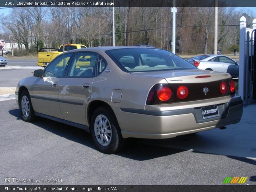
[[[0, 70], [0, 87], [16, 87], [32, 75], [33, 66], [22, 67]], [[5, 178], [39, 179], [41, 185], [223, 185], [226, 177], [256, 184], [256, 104], [245, 106], [241, 121], [227, 129], [134, 139], [112, 155], [97, 151], [84, 130], [39, 117], [24, 122], [15, 100], [0, 107], [0, 185], [35, 184]]]

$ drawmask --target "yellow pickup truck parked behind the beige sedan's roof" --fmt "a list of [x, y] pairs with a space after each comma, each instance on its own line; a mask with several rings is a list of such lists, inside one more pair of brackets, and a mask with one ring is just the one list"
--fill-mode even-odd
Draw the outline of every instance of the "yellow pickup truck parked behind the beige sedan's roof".
[[[64, 44], [64, 51], [83, 48], [87, 47], [81, 44]], [[60, 45], [59, 49], [41, 48], [37, 55], [37, 65], [41, 67], [46, 67], [55, 57], [57, 57], [61, 53], [63, 53], [63, 44]]]

